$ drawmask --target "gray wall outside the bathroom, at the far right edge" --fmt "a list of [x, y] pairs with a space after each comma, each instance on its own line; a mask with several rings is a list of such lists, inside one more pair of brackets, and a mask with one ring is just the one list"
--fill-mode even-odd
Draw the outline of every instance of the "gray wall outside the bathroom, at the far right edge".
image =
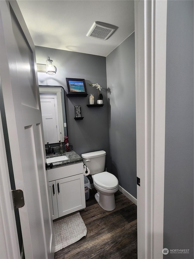
[[193, 259], [193, 1], [167, 2], [164, 258]]

